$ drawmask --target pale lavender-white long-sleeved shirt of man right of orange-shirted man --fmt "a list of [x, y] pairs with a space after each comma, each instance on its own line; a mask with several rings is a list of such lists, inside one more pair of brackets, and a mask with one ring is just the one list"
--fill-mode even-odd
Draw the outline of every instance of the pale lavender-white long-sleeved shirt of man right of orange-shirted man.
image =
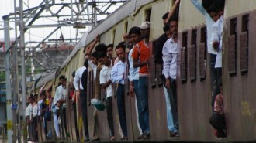
[[163, 62], [164, 69], [163, 74], [165, 78], [171, 77], [172, 79], [176, 79], [177, 76], [177, 61], [178, 54], [180, 53], [180, 44], [179, 41], [175, 43], [175, 41], [170, 38], [168, 39], [163, 46]]

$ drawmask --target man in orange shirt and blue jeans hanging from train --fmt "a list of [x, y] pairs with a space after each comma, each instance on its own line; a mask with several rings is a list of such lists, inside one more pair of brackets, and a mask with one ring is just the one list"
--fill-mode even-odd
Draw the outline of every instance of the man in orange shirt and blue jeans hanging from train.
[[149, 127], [149, 110], [148, 110], [148, 75], [149, 75], [149, 60], [150, 60], [150, 49], [147, 43], [144, 42], [141, 36], [140, 28], [133, 27], [129, 31], [129, 36], [133, 42], [134, 49], [132, 53], [133, 67], [140, 67], [138, 89], [139, 100], [137, 100], [138, 106], [140, 106], [139, 117], [142, 118], [142, 124], [140, 128], [143, 133], [143, 138], [150, 138], [150, 127]]

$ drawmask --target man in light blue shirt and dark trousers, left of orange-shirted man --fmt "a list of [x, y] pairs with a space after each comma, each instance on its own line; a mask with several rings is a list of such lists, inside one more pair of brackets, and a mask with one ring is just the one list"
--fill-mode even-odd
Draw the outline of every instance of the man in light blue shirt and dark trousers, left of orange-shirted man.
[[119, 62], [116, 63], [111, 70], [112, 83], [118, 83], [116, 91], [117, 108], [119, 114], [119, 122], [123, 131], [123, 138], [121, 140], [127, 140], [127, 125], [126, 125], [126, 111], [125, 111], [125, 91], [124, 83], [127, 80], [126, 73], [126, 52], [125, 46], [120, 44], [116, 46], [116, 56], [119, 58]]

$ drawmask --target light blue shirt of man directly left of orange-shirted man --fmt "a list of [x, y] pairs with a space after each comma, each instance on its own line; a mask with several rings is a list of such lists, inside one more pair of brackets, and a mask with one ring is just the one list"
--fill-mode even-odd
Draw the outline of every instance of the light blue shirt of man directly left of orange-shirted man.
[[126, 76], [126, 64], [120, 60], [111, 70], [112, 83], [124, 84], [124, 77]]

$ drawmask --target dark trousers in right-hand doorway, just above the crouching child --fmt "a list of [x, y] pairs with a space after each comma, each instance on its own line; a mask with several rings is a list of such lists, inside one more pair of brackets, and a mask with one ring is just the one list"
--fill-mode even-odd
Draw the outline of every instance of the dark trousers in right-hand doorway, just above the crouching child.
[[218, 81], [221, 77], [221, 68], [215, 68], [216, 55], [210, 54], [210, 75], [211, 75], [211, 89], [212, 89], [212, 110], [216, 95], [220, 94]]

